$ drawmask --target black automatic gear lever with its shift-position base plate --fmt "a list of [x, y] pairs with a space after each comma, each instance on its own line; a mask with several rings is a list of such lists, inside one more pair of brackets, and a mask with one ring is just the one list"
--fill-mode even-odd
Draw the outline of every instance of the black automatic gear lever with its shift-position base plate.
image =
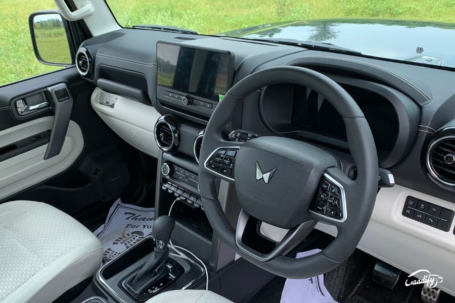
[[176, 261], [169, 258], [169, 239], [174, 228], [174, 219], [161, 216], [152, 228], [155, 249], [147, 263], [127, 278], [123, 287], [137, 300], [145, 301], [185, 272]]

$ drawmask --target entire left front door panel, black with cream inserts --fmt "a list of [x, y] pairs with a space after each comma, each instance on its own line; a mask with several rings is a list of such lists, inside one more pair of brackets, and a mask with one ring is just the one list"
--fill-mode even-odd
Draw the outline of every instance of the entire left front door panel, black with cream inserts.
[[[71, 112], [65, 115], [70, 120], [61, 150], [56, 156], [44, 160], [49, 145], [44, 141], [2, 158], [4, 146], [33, 138], [42, 131], [55, 133], [64, 129], [55, 123], [55, 115], [59, 113], [56, 100], [51, 99], [51, 109], [44, 112], [26, 116], [15, 113], [15, 100], [43, 90], [49, 92], [49, 88], [57, 84], [65, 84], [72, 98]], [[0, 87], [0, 203], [35, 200], [75, 215], [100, 201], [115, 200], [138, 188], [131, 165], [137, 151], [95, 113], [90, 105], [94, 88], [80, 78], [75, 67]], [[59, 137], [55, 134], [54, 137]], [[44, 140], [52, 140], [52, 136]], [[107, 190], [112, 188], [112, 184], [106, 184], [105, 179], [119, 168], [122, 168], [123, 183], [115, 190]]]

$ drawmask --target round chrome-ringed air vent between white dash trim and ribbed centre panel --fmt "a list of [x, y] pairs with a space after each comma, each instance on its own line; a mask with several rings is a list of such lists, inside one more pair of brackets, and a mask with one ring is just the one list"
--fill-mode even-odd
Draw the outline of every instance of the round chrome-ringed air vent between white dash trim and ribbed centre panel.
[[169, 116], [161, 116], [155, 124], [155, 140], [158, 147], [166, 153], [173, 153], [178, 147], [177, 124]]

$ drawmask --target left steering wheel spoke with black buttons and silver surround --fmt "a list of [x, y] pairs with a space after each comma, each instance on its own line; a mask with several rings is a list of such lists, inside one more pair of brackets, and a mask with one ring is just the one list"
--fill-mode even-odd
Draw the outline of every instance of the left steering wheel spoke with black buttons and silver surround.
[[211, 175], [235, 182], [235, 162], [242, 142], [220, 140], [204, 161], [204, 169]]

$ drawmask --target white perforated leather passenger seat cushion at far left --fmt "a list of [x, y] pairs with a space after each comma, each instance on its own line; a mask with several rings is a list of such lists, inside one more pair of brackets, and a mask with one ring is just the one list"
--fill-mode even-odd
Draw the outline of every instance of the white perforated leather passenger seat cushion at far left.
[[52, 302], [93, 276], [102, 258], [93, 233], [56, 208], [0, 204], [0, 303]]

